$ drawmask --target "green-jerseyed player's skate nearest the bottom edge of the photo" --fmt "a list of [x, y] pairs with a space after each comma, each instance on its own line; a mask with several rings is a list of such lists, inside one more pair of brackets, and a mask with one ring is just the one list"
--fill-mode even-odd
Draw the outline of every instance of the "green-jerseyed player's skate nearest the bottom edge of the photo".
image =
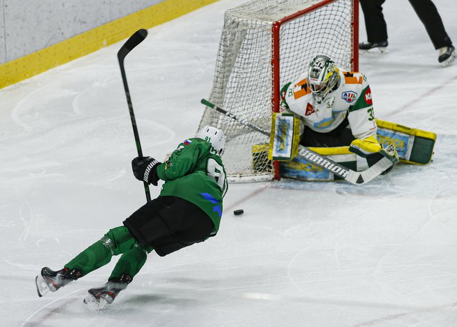
[[125, 290], [130, 282], [132, 282], [132, 277], [129, 274], [110, 279], [104, 286], [88, 290], [89, 295], [83, 301], [93, 306], [95, 310], [103, 310], [113, 303], [119, 292]]

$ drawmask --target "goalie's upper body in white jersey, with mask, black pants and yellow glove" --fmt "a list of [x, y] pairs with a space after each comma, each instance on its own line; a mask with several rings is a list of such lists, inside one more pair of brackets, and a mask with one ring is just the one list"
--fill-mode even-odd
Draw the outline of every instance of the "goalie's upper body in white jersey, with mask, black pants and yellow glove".
[[368, 166], [386, 157], [397, 164], [395, 146], [377, 141], [373, 100], [366, 76], [343, 71], [325, 55], [312, 59], [308, 71], [281, 90], [280, 109], [303, 122], [305, 147], [342, 147], [366, 158]]

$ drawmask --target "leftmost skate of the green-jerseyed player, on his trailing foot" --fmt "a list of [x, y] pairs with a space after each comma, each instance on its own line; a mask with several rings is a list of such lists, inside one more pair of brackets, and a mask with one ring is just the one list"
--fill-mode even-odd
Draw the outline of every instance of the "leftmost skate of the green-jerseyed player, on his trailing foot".
[[44, 267], [37, 277], [35, 277], [35, 285], [39, 297], [46, 295], [47, 292], [55, 292], [59, 288], [65, 286], [71, 281], [81, 277], [81, 270], [63, 268], [62, 270], [54, 271], [51, 268]]

